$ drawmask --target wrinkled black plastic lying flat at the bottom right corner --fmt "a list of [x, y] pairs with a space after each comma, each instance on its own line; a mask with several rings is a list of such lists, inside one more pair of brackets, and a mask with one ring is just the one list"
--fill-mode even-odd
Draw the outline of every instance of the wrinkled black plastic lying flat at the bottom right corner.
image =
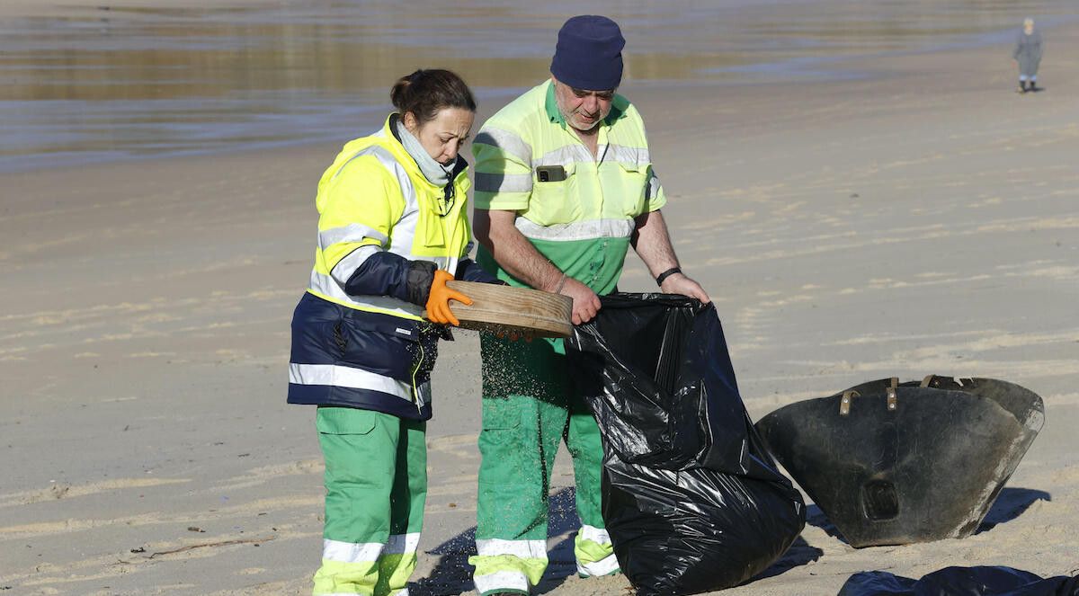
[[1079, 578], [1041, 579], [1011, 567], [946, 567], [920, 580], [864, 571], [837, 596], [1079, 596]]

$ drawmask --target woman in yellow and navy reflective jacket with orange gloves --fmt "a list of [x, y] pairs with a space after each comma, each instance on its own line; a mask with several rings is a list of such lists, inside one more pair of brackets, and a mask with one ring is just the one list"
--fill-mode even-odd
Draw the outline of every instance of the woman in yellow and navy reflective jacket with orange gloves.
[[[326, 525], [314, 594], [407, 594], [427, 493], [424, 429], [446, 282], [498, 283], [467, 258], [476, 100], [448, 70], [391, 91], [397, 112], [344, 146], [318, 182], [318, 247], [292, 317], [288, 402], [318, 406]], [[426, 309], [427, 320], [424, 319]]]

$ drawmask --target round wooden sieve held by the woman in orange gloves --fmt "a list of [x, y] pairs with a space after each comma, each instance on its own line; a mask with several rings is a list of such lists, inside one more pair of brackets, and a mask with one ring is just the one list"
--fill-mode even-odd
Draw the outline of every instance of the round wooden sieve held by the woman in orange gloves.
[[472, 306], [450, 300], [450, 311], [464, 329], [528, 331], [535, 337], [573, 335], [573, 299], [561, 294], [476, 282], [447, 282], [472, 298]]

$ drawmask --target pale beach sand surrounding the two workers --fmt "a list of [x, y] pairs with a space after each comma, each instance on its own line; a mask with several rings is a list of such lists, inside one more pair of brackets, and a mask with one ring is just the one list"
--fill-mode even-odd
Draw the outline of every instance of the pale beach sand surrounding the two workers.
[[[890, 376], [998, 378], [1046, 402], [975, 536], [856, 550], [812, 510], [765, 578], [724, 594], [831, 595], [872, 569], [1079, 568], [1079, 27], [1047, 39], [1048, 90], [1026, 96], [1006, 45], [844, 65], [864, 79], [623, 90], [754, 419]], [[286, 365], [315, 182], [338, 148], [0, 176], [3, 594], [310, 590], [323, 469], [314, 410], [284, 402]], [[622, 288], [654, 289], [633, 258]], [[470, 590], [477, 350], [457, 334], [435, 371], [413, 595]], [[559, 458], [540, 592], [627, 594], [624, 578], [576, 579]]]

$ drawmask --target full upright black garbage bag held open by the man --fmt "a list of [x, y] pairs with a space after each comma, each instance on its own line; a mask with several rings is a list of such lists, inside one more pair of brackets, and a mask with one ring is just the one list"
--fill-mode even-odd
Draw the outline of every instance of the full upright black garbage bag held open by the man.
[[805, 504], [746, 412], [714, 307], [604, 297], [566, 354], [603, 435], [603, 519], [639, 594], [722, 590], [782, 556]]

